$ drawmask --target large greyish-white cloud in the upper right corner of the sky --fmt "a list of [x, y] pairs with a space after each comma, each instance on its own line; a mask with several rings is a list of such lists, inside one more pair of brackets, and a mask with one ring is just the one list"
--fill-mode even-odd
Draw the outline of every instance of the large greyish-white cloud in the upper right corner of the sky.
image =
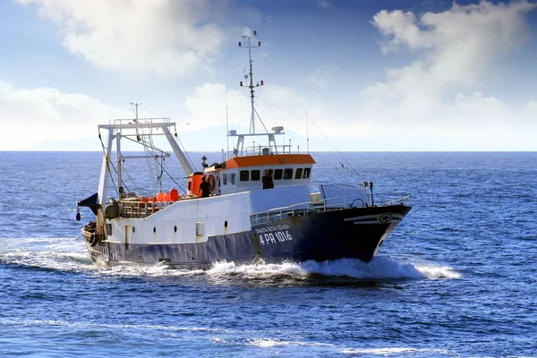
[[537, 4], [479, 4], [453, 7], [442, 13], [381, 11], [373, 24], [388, 37], [385, 51], [406, 46], [417, 58], [401, 68], [388, 69], [387, 80], [363, 93], [379, 107], [405, 107], [428, 114], [451, 91], [473, 90], [499, 59], [521, 45], [528, 35], [525, 14]]

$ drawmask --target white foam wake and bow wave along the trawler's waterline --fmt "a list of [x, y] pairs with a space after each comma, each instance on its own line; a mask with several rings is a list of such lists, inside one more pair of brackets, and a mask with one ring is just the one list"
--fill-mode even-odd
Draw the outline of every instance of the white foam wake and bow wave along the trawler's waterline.
[[364, 263], [361, 260], [341, 259], [324, 262], [305, 261], [281, 264], [237, 265], [217, 262], [209, 270], [168, 269], [163, 265], [119, 266], [98, 268], [90, 259], [84, 243], [73, 237], [0, 239], [0, 262], [38, 268], [70, 271], [94, 271], [109, 276], [181, 277], [289, 277], [305, 280], [313, 275], [323, 277], [353, 277], [364, 280], [390, 279], [457, 279], [461, 275], [453, 268], [432, 264], [398, 262], [379, 256]]

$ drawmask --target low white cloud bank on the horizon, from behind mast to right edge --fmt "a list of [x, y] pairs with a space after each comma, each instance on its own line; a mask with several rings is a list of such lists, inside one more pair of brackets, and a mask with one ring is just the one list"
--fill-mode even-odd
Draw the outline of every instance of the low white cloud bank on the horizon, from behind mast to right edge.
[[[429, 124], [417, 123], [409, 113], [398, 108], [367, 114], [361, 104], [347, 103], [337, 107], [318, 98], [307, 98], [296, 90], [272, 85], [258, 93], [256, 109], [270, 130], [284, 125], [293, 144], [305, 149], [306, 114], [309, 135], [317, 150], [534, 150], [532, 126], [517, 127], [513, 117], [524, 121], [537, 118], [537, 104], [509, 107], [499, 98], [485, 97], [481, 92], [456, 95], [453, 104], [437, 107]], [[290, 93], [291, 92], [291, 93]], [[223, 84], [206, 83], [196, 88], [185, 102], [190, 111], [188, 125], [181, 126], [183, 136], [188, 132], [216, 127], [226, 123], [226, 89]], [[231, 129], [247, 132], [250, 121], [250, 102], [247, 92], [230, 90], [227, 93]], [[296, 101], [295, 99], [296, 98]], [[298, 102], [298, 103], [297, 103]], [[300, 104], [300, 106], [299, 106]], [[398, 116], [404, 115], [404, 116]], [[256, 118], [257, 132], [263, 132]], [[322, 133], [318, 131], [318, 127]], [[537, 125], [533, 125], [537, 130]], [[204, 141], [191, 141], [193, 149], [219, 149], [225, 142], [222, 133], [204, 134]], [[293, 134], [295, 133], [295, 134]], [[210, 136], [210, 141], [206, 141]], [[332, 141], [332, 147], [324, 136]], [[246, 143], [251, 145], [251, 143]]]

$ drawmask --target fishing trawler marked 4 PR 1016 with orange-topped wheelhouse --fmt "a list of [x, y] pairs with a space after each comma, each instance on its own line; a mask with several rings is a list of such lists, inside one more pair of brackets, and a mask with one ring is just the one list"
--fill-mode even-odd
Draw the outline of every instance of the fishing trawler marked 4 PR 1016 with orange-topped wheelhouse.
[[[256, 132], [254, 90], [264, 82], [252, 80], [251, 49], [256, 45], [251, 36], [243, 41], [239, 46], [248, 48], [250, 72], [240, 85], [251, 94], [250, 131], [228, 130], [228, 140], [236, 142], [232, 151], [223, 151], [221, 162], [208, 165], [203, 157], [202, 169], [195, 170], [177, 139], [176, 124], [168, 118], [139, 118], [138, 107], [133, 119], [98, 125], [104, 154], [98, 192], [77, 204], [96, 216], [82, 228], [82, 236], [97, 264], [191, 269], [224, 260], [369, 262], [411, 209], [409, 196], [375, 202], [371, 182], [314, 184], [311, 154], [277, 142], [285, 134], [283, 126]], [[156, 136], [164, 136], [171, 150], [159, 149]], [[258, 144], [245, 147], [248, 140]], [[141, 145], [143, 154], [124, 152], [124, 141]], [[183, 168], [184, 189], [168, 190], [160, 181], [158, 189], [145, 195], [133, 190], [126, 163], [153, 161], [161, 178], [165, 159], [171, 157]]]

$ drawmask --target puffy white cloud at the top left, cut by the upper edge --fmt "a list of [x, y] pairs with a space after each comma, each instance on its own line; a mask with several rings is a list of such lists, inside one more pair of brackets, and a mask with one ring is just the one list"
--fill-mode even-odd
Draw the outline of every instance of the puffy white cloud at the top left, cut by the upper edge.
[[16, 0], [37, 4], [64, 47], [115, 72], [183, 75], [207, 67], [225, 41], [209, 0]]

